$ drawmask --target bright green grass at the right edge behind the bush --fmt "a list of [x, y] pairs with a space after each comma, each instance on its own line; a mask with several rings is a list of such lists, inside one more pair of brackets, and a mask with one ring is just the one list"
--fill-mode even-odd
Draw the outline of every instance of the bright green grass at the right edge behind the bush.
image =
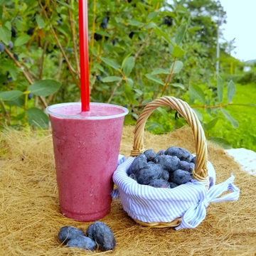
[[[236, 85], [233, 103], [256, 105], [256, 85]], [[256, 107], [232, 105], [226, 107], [225, 110], [238, 121], [238, 129], [233, 128], [230, 122], [223, 117], [210, 132], [210, 135], [227, 139], [234, 149], [245, 148], [256, 151]]]

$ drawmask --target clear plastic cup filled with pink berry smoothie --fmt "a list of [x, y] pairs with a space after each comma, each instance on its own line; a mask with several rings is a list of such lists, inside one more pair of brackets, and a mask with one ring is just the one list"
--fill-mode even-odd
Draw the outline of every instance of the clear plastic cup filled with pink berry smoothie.
[[80, 102], [46, 108], [50, 115], [60, 211], [68, 218], [94, 221], [110, 213], [112, 174], [127, 108]]

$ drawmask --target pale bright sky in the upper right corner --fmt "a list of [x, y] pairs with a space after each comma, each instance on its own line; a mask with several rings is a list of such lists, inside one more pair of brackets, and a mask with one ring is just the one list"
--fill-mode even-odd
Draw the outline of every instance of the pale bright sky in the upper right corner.
[[256, 0], [220, 0], [227, 23], [220, 27], [225, 40], [235, 38], [231, 52], [239, 60], [256, 60]]

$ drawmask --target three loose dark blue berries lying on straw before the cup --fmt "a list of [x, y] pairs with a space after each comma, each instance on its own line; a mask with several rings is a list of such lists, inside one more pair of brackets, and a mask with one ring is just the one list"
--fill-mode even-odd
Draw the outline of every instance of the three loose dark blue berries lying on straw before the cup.
[[97, 247], [102, 252], [113, 250], [117, 243], [110, 228], [100, 221], [95, 221], [86, 230], [64, 226], [60, 228], [58, 239], [68, 247], [78, 247], [85, 250], [95, 251]]

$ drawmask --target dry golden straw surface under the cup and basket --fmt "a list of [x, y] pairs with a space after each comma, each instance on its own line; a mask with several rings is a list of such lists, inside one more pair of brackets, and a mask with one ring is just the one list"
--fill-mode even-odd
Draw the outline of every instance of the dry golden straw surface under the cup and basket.
[[[129, 156], [134, 127], [124, 127], [121, 154]], [[181, 146], [193, 153], [191, 129], [161, 136], [145, 133], [146, 149]], [[65, 218], [59, 210], [50, 132], [36, 135], [10, 129], [1, 134], [0, 255], [255, 255], [256, 178], [240, 169], [223, 149], [208, 144], [217, 183], [235, 175], [238, 201], [210, 203], [206, 219], [193, 230], [145, 228], [122, 210], [119, 198], [101, 221], [113, 231], [110, 252], [68, 248], [58, 240], [64, 225], [86, 230], [91, 223]]]

